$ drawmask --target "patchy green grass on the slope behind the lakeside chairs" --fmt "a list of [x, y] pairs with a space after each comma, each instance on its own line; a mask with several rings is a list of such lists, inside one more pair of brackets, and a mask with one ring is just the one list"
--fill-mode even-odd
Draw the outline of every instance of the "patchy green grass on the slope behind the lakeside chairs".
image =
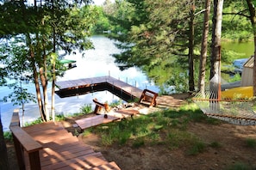
[[[128, 145], [132, 148], [165, 144], [167, 149], [186, 148], [187, 155], [202, 153], [207, 147], [218, 147], [219, 143], [204, 143], [199, 137], [187, 131], [190, 122], [217, 124], [208, 118], [194, 104], [153, 112], [120, 122], [113, 122], [91, 129], [102, 138], [102, 145]], [[107, 128], [106, 128], [107, 126]]]

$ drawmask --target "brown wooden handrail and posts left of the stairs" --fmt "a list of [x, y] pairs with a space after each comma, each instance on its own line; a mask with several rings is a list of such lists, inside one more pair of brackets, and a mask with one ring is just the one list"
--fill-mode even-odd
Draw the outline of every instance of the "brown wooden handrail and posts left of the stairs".
[[24, 160], [24, 151], [28, 153], [30, 168], [34, 170], [41, 169], [39, 151], [42, 149], [40, 143], [34, 141], [28, 133], [20, 127], [19, 110], [13, 112], [13, 117], [9, 125], [12, 132], [13, 141], [16, 149], [17, 161], [20, 169], [26, 169]]

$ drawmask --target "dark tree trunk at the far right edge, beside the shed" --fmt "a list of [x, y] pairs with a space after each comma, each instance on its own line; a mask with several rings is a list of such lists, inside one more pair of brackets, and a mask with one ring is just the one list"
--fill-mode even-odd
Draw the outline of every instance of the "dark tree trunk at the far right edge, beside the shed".
[[253, 96], [256, 96], [256, 9], [252, 0], [247, 0], [254, 37]]

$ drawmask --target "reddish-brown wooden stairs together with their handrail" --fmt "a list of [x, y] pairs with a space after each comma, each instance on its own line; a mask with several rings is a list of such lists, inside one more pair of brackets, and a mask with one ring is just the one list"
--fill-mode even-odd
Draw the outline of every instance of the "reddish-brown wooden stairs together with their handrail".
[[114, 161], [106, 161], [100, 152], [72, 136], [61, 124], [47, 122], [24, 128], [11, 124], [10, 129], [20, 169], [120, 169]]

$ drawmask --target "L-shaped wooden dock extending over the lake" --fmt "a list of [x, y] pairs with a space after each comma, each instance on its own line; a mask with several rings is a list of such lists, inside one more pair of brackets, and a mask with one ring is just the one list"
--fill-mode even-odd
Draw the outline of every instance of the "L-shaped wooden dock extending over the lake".
[[56, 82], [56, 87], [59, 88], [59, 90], [55, 91], [55, 93], [61, 98], [104, 90], [116, 94], [116, 96], [120, 97], [122, 100], [140, 99], [140, 95], [142, 94], [140, 88], [131, 86], [111, 76]]

